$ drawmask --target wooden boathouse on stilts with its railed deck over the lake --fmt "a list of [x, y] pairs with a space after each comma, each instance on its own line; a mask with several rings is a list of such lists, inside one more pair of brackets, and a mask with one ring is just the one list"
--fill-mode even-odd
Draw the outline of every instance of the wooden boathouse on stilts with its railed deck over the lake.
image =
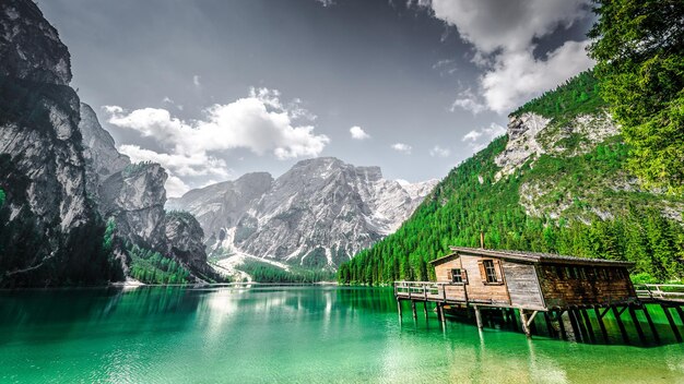
[[[674, 308], [682, 321], [684, 295], [657, 299], [652, 295], [637, 292], [629, 278], [632, 262], [585, 259], [557, 254], [500, 251], [483, 248], [451, 247], [451, 253], [431, 262], [435, 267], [436, 281], [396, 281], [394, 296], [401, 315], [401, 301], [411, 301], [414, 316], [415, 303], [435, 302], [438, 317], [444, 322], [445, 308], [474, 310], [479, 328], [483, 327], [482, 309], [503, 311], [514, 319], [519, 312], [522, 331], [530, 336], [530, 326], [539, 313], [543, 313], [550, 334], [565, 335], [563, 314], [567, 313], [575, 335], [593, 339], [588, 310], [595, 312], [598, 325], [608, 341], [602, 319], [613, 312], [621, 333], [627, 341], [627, 333], [621, 315], [628, 311], [639, 337], [644, 332], [636, 310], [644, 311], [653, 337], [656, 326], [644, 303], [660, 303], [668, 321], [681, 341], [681, 334], [670, 313]], [[682, 301], [680, 302], [679, 299]]]

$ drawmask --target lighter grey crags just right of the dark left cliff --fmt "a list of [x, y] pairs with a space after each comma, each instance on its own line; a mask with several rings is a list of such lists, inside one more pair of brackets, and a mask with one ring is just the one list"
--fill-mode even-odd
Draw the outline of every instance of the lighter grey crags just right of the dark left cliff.
[[89, 194], [98, 202], [102, 217], [114, 219], [117, 239], [175, 259], [197, 278], [215, 278], [194, 217], [164, 211], [168, 177], [164, 168], [154, 163], [131, 164], [116, 149], [90, 106], [81, 104], [81, 115]]

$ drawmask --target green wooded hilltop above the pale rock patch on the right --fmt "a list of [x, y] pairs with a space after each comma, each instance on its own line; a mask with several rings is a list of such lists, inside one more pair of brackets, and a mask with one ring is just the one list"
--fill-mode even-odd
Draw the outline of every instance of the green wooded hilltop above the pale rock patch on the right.
[[599, 81], [592, 71], [585, 71], [577, 76], [531, 99], [518, 108], [511, 116], [520, 117], [533, 112], [554, 119], [557, 123], [566, 122], [578, 115], [595, 113], [605, 107], [599, 94]]

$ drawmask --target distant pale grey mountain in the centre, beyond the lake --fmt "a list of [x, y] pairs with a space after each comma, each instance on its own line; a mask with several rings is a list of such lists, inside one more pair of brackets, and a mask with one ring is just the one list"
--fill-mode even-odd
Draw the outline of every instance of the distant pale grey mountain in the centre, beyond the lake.
[[215, 255], [335, 269], [396, 230], [435, 183], [400, 183], [384, 179], [378, 167], [322, 157], [299, 161], [275, 180], [249, 173], [192, 190], [167, 208], [192, 213]]

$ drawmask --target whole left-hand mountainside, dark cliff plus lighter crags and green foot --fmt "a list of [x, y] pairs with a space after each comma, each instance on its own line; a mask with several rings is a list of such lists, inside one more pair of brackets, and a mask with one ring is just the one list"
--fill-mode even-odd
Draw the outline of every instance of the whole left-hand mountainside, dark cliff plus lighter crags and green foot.
[[166, 171], [131, 165], [69, 86], [70, 56], [30, 0], [0, 3], [0, 287], [216, 279]]

